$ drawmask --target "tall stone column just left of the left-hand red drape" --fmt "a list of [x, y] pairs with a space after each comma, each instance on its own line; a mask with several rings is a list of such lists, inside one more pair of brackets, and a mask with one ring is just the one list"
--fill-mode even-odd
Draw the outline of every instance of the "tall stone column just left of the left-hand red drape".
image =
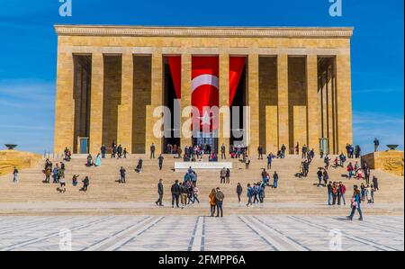
[[150, 105], [147, 106], [145, 153], [150, 153], [150, 145], [154, 143], [156, 148], [155, 155], [158, 155], [162, 152], [162, 138], [156, 137], [153, 129], [157, 121], [162, 117], [153, 117], [153, 112], [163, 104], [163, 58], [161, 52], [154, 52], [152, 54], [151, 76]]

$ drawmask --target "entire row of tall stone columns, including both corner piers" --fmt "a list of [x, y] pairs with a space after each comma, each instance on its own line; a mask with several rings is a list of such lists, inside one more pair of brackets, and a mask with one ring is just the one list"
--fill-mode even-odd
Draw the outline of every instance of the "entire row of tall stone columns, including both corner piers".
[[[133, 96], [133, 58], [132, 54], [122, 54], [121, 104], [118, 108], [117, 141], [131, 152], [132, 148], [132, 98]], [[247, 60], [247, 105], [250, 106], [247, 119], [247, 134], [250, 153], [256, 153], [259, 146], [259, 70], [258, 54], [248, 54]], [[350, 56], [338, 55], [337, 67], [337, 144], [343, 150], [346, 143], [352, 141], [351, 126], [351, 88], [350, 88]], [[182, 100], [183, 108], [191, 104], [191, 69], [192, 55], [182, 54]], [[151, 56], [151, 103], [147, 107], [146, 145], [145, 152], [152, 143], [162, 148], [162, 139], [153, 134], [153, 109], [163, 104], [163, 55], [154, 52]], [[73, 100], [73, 55], [58, 54], [57, 111], [55, 125], [55, 151], [62, 152], [65, 147], [73, 148], [74, 139], [74, 100]], [[320, 113], [318, 99], [318, 58], [317, 55], [307, 56], [307, 142], [310, 148], [319, 151]], [[103, 53], [92, 54], [91, 77], [91, 112], [89, 150], [96, 153], [102, 146], [103, 137]], [[288, 101], [288, 55], [277, 56], [277, 145], [289, 148], [289, 101]], [[220, 54], [220, 106], [229, 105], [229, 54]], [[188, 114], [182, 115], [182, 126], [188, 120]], [[220, 118], [219, 145], [229, 145], [229, 139], [222, 136]], [[270, 127], [270, 128], [275, 128]], [[270, 139], [266, 134], [266, 143]], [[190, 138], [182, 138], [182, 145], [190, 145]]]

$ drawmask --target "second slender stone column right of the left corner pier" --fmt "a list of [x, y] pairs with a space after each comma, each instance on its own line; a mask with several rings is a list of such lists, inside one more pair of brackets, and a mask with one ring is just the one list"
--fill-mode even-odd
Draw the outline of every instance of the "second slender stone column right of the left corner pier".
[[133, 56], [122, 54], [121, 104], [118, 106], [117, 143], [132, 152]]

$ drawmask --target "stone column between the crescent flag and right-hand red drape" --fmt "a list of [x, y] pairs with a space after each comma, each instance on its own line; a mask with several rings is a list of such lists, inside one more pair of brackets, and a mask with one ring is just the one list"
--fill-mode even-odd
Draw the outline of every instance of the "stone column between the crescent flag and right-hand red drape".
[[224, 107], [224, 112], [220, 113], [219, 119], [219, 137], [218, 137], [218, 149], [220, 153], [220, 147], [222, 144], [229, 151], [229, 128], [230, 128], [230, 110], [226, 111], [226, 107], [229, 107], [229, 54], [220, 54], [220, 108]]

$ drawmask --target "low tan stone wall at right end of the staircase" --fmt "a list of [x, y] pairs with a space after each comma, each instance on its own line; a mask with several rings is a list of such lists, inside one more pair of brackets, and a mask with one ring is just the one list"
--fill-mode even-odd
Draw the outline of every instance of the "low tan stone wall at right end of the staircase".
[[379, 169], [393, 175], [404, 175], [403, 173], [403, 151], [387, 150], [378, 151], [362, 156], [371, 169]]

